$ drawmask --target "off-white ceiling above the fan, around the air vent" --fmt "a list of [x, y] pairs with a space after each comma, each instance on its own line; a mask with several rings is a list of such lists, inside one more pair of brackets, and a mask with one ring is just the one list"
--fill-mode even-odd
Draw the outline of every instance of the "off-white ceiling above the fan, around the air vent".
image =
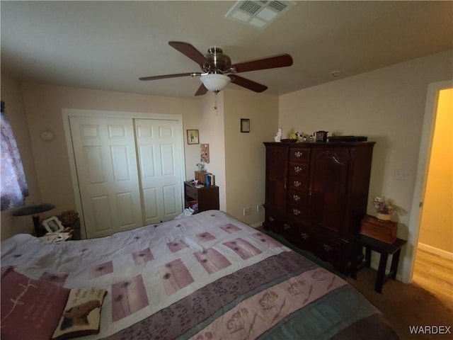
[[221, 47], [233, 63], [289, 53], [292, 67], [241, 73], [271, 94], [453, 48], [452, 1], [296, 2], [260, 30], [224, 18], [234, 1], [1, 1], [1, 67], [45, 83], [195, 98], [199, 78], [138, 79], [200, 72], [168, 41], [203, 54]]

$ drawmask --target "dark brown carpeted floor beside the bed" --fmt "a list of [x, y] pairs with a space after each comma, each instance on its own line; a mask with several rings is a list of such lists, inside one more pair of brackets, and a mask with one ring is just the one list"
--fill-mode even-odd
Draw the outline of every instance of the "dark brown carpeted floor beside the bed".
[[[321, 261], [314, 254], [292, 246], [280, 235], [263, 228], [258, 229], [347, 280], [375, 307], [381, 310], [401, 340], [453, 339], [453, 297], [451, 300], [440, 300], [439, 297], [432, 295], [428, 290], [418, 285], [408, 285], [397, 280], [388, 280], [382, 288], [382, 293], [377, 293], [374, 291], [374, 282], [377, 274], [374, 269], [362, 268], [357, 273], [357, 280], [354, 280], [334, 271], [329, 263]], [[442, 328], [444, 331], [449, 330], [449, 334], [411, 334], [411, 326], [442, 326], [445, 327]]]

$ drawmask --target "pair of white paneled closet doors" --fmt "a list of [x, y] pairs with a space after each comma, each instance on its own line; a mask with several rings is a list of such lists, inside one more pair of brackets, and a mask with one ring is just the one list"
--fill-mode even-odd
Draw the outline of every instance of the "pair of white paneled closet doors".
[[182, 211], [178, 121], [69, 117], [86, 236]]

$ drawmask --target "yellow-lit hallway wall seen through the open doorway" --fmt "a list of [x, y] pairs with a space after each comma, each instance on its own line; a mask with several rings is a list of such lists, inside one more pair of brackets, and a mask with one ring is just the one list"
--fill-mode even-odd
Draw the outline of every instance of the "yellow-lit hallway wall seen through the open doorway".
[[453, 89], [440, 91], [418, 242], [453, 253]]

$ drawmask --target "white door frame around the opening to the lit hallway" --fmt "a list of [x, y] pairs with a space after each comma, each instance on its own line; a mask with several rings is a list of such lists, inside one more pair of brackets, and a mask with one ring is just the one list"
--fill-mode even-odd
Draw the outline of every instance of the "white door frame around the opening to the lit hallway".
[[[420, 151], [418, 152], [417, 173], [415, 175], [411, 215], [409, 217], [408, 225], [408, 249], [411, 251], [411, 256], [404, 256], [404, 261], [401, 266], [401, 280], [403, 283], [412, 283], [413, 267], [415, 264], [415, 255], [417, 254], [418, 237], [420, 235], [423, 200], [425, 200], [426, 182], [428, 181], [428, 167], [430, 165], [439, 92], [443, 89], [451, 89], [452, 87], [453, 79], [428, 84], [425, 115], [423, 116], [420, 138]], [[412, 249], [410, 249], [411, 245]]]

